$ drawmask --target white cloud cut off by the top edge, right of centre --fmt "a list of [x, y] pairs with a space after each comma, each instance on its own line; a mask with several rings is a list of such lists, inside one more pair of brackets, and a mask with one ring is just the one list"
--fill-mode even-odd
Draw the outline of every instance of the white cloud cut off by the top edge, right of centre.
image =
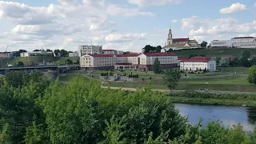
[[163, 6], [166, 4], [179, 4], [180, 0], [128, 0], [138, 6]]

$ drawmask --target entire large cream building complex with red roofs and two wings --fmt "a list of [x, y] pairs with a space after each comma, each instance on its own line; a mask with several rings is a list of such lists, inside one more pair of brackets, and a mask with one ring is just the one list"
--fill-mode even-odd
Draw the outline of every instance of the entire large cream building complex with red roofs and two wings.
[[178, 66], [178, 56], [173, 53], [148, 54], [86, 54], [80, 58], [82, 70], [153, 70], [158, 58], [162, 69]]

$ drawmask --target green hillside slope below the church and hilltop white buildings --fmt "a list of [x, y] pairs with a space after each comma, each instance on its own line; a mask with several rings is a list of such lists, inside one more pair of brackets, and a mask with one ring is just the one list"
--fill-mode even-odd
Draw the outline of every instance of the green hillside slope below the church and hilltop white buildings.
[[223, 55], [236, 55], [240, 56], [242, 50], [250, 50], [251, 55], [256, 55], [256, 49], [194, 49], [194, 50], [178, 50], [173, 51], [178, 57], [189, 58], [191, 54], [205, 55], [206, 58], [222, 57]]

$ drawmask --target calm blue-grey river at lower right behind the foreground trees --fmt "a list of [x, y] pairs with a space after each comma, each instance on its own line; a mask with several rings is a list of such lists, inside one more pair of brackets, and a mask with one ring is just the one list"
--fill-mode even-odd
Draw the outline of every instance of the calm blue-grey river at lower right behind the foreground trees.
[[187, 116], [190, 124], [195, 125], [203, 118], [202, 124], [220, 120], [223, 126], [232, 126], [241, 123], [244, 130], [253, 130], [256, 122], [256, 108], [242, 106], [201, 106], [190, 104], [174, 104], [175, 109], [182, 116]]

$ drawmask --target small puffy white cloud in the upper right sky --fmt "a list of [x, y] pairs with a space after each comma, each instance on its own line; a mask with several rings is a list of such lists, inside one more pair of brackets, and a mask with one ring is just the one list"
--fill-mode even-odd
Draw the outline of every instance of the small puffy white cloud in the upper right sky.
[[247, 10], [246, 5], [243, 5], [237, 2], [237, 3], [233, 3], [230, 7], [221, 9], [219, 12], [221, 14], [234, 14], [234, 13], [241, 13], [245, 10]]

